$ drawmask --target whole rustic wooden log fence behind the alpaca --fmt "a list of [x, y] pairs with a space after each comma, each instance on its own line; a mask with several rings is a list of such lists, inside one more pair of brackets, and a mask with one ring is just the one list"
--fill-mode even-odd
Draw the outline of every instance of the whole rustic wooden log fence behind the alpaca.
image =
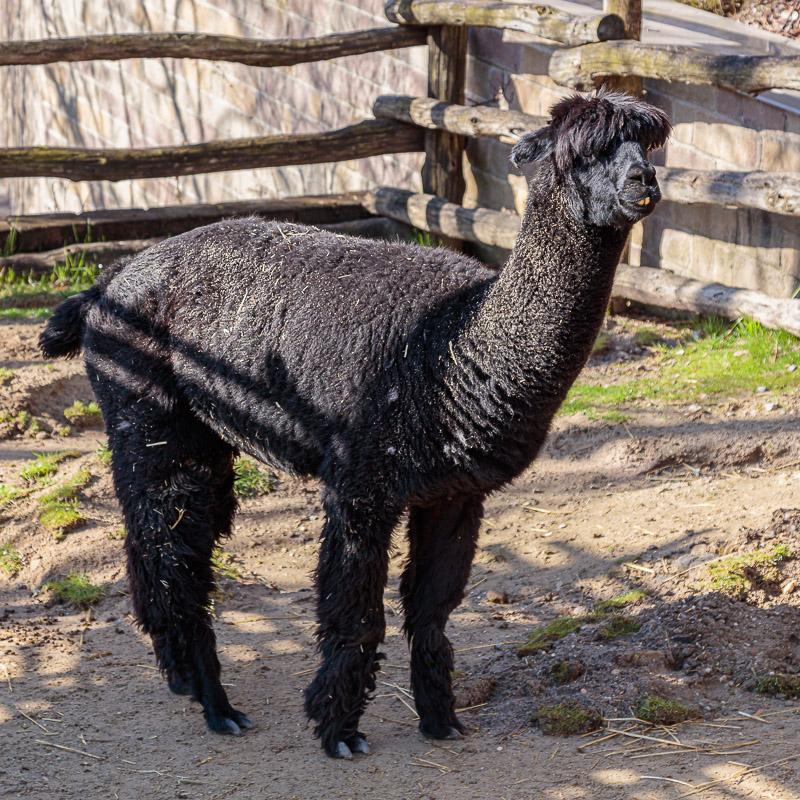
[[[10, 218], [0, 221], [0, 236], [16, 228], [23, 234], [23, 246], [50, 251], [0, 260], [0, 266], [46, 266], [63, 252], [57, 248], [69, 239], [70, 232], [87, 224], [95, 236], [110, 240], [92, 246], [94, 257], [100, 253], [109, 258], [239, 213], [373, 234], [387, 230], [378, 217], [430, 231], [453, 247], [463, 241], [512, 247], [519, 227], [516, 215], [461, 205], [465, 142], [470, 137], [490, 137], [511, 144], [544, 120], [518, 111], [464, 104], [469, 27], [522, 31], [562, 45], [550, 58], [548, 75], [563, 86], [590, 89], [605, 82], [637, 91], [642, 78], [659, 78], [749, 93], [800, 89], [798, 56], [710, 56], [691, 47], [644, 44], [638, 41], [641, 0], [605, 0], [605, 8], [605, 13], [576, 16], [507, 0], [389, 0], [386, 16], [395, 23], [392, 27], [309, 39], [267, 41], [201, 33], [148, 33], [0, 43], [0, 67], [166, 57], [275, 67], [420, 44], [426, 44], [429, 51], [427, 97], [378, 97], [373, 107], [375, 119], [335, 131], [159, 148], [0, 148], [0, 178], [110, 181], [424, 152], [423, 193], [385, 187], [327, 197]], [[673, 202], [800, 216], [800, 173], [661, 167], [658, 176], [664, 197]], [[800, 302], [796, 300], [688, 281], [666, 270], [623, 265], [615, 294], [701, 313], [748, 314], [800, 335]]]

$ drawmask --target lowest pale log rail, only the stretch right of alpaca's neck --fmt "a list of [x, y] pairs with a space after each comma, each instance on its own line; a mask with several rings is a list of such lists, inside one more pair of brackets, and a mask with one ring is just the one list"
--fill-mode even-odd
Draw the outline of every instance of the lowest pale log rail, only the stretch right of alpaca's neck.
[[665, 269], [623, 264], [617, 269], [612, 294], [694, 314], [716, 314], [726, 319], [752, 317], [768, 328], [800, 336], [800, 300], [770, 297], [721, 283], [702, 283]]

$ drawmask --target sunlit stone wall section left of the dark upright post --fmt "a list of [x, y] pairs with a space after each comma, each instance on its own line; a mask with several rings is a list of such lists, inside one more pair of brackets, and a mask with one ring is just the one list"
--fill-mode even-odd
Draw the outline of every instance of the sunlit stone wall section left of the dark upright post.
[[[25, 13], [20, 13], [21, 4]], [[386, 27], [379, 0], [6, 0], [0, 38], [204, 31], [268, 39]], [[372, 100], [425, 94], [427, 49], [261, 69], [213, 61], [142, 59], [0, 68], [0, 146], [150, 147], [343, 127]], [[325, 194], [375, 182], [419, 186], [421, 156], [181, 178], [72, 184], [12, 180], [14, 213]]]

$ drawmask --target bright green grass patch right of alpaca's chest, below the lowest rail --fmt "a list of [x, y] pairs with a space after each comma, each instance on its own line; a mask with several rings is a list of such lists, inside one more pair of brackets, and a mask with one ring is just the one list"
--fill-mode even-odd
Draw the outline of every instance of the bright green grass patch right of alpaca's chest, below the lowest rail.
[[[755, 392], [759, 386], [772, 391], [794, 388], [797, 377], [786, 367], [800, 361], [800, 342], [784, 331], [764, 328], [752, 320], [740, 320], [724, 330], [705, 321], [683, 343], [683, 354], [656, 347], [657, 375], [612, 384], [577, 382], [562, 406], [562, 414], [601, 413], [642, 400], [659, 403], [691, 403], [709, 397], [729, 397]], [[734, 353], [743, 355], [734, 356]]]

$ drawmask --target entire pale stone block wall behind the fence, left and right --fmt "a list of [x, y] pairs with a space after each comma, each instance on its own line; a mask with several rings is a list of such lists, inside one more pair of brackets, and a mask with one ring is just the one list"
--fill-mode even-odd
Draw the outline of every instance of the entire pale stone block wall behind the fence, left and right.
[[[22, 2], [0, 8], [3, 39], [149, 30], [276, 38], [386, 25], [383, 0], [41, 0], [20, 14]], [[551, 2], [573, 11], [598, 5]], [[643, 38], [714, 52], [800, 52], [789, 40], [671, 0], [645, 0]], [[565, 94], [544, 77], [551, 52], [523, 34], [472, 30], [468, 102], [545, 113]], [[137, 147], [336, 128], [370, 116], [377, 94], [424, 94], [426, 58], [417, 47], [281, 69], [173, 60], [4, 68], [0, 93], [8, 113], [0, 116], [0, 146]], [[659, 82], [648, 82], [646, 90], [675, 123], [658, 156], [667, 164], [800, 170], [796, 93], [755, 99]], [[525, 182], [509, 171], [508, 152], [497, 142], [470, 142], [467, 205], [522, 210]], [[375, 183], [418, 188], [420, 164], [419, 155], [406, 154], [119, 183], [12, 180], [0, 182], [0, 203], [6, 195], [15, 213], [30, 213], [326, 193]], [[800, 283], [800, 222], [664, 202], [635, 233], [631, 261], [787, 296]]]

